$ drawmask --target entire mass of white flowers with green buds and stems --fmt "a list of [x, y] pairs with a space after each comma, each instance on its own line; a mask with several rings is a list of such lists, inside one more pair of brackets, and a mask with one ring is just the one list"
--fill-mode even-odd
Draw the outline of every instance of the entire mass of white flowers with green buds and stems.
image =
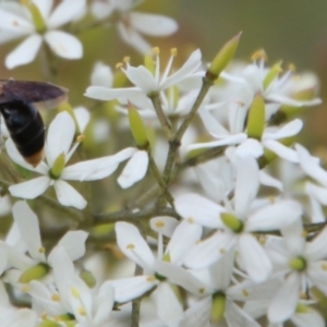
[[60, 106], [36, 166], [21, 148], [36, 140], [34, 104], [53, 99], [0, 85], [0, 216], [13, 219], [0, 230], [0, 326], [325, 326], [327, 171], [296, 141], [318, 81], [263, 50], [235, 63], [241, 34], [209, 64], [196, 49], [177, 68], [173, 48], [162, 69], [142, 34], [177, 24], [140, 2], [0, 2], [0, 41], [26, 37], [9, 69], [43, 40], [81, 58], [75, 21], [113, 13], [145, 53], [95, 64], [85, 106]]

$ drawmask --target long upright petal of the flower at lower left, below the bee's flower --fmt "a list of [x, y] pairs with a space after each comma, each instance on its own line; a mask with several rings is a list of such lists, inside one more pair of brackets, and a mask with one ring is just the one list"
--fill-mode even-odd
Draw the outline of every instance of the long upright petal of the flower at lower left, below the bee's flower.
[[16, 202], [12, 211], [31, 256], [37, 262], [45, 262], [45, 253], [40, 251], [43, 245], [37, 216], [25, 201]]

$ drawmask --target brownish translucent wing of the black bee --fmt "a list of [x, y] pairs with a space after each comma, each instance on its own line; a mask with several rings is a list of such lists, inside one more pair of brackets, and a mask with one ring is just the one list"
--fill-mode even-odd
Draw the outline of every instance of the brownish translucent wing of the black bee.
[[36, 104], [43, 109], [58, 107], [68, 99], [68, 89], [50, 83], [0, 80], [0, 105], [10, 101]]

